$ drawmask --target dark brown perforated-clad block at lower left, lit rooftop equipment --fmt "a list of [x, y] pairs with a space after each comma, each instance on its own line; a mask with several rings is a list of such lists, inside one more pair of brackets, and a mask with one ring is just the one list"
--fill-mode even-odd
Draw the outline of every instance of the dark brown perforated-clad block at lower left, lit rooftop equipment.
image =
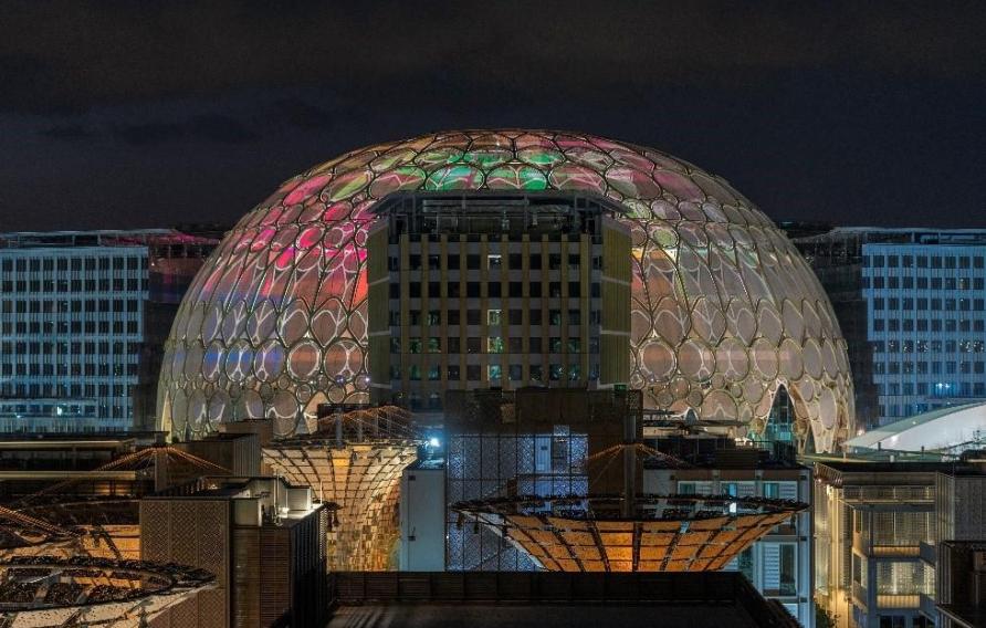
[[277, 478], [202, 478], [140, 501], [143, 559], [207, 569], [216, 587], [156, 627], [322, 626], [327, 511]]

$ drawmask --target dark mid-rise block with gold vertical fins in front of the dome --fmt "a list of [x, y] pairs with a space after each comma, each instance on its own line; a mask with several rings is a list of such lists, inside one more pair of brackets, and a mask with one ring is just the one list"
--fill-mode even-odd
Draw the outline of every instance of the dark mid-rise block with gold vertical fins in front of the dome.
[[563, 193], [391, 195], [367, 240], [370, 399], [611, 387], [630, 377], [622, 206]]

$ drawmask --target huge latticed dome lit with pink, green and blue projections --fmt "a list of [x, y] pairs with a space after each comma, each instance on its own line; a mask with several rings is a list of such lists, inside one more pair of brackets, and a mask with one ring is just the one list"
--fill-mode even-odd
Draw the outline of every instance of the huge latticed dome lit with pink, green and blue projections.
[[[800, 443], [852, 419], [831, 306], [787, 238], [725, 180], [663, 153], [542, 130], [427, 135], [347, 153], [284, 182], [230, 231], [166, 345], [162, 429], [198, 436], [368, 400], [366, 234], [398, 190], [569, 190], [626, 207], [633, 236], [630, 384], [647, 404], [762, 433], [785, 387]], [[741, 429], [741, 432], [743, 430]]]

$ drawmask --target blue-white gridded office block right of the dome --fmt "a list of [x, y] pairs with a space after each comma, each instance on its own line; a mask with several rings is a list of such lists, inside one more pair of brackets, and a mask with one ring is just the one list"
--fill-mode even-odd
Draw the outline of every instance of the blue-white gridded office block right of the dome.
[[839, 316], [861, 426], [986, 399], [986, 231], [839, 228], [795, 244]]

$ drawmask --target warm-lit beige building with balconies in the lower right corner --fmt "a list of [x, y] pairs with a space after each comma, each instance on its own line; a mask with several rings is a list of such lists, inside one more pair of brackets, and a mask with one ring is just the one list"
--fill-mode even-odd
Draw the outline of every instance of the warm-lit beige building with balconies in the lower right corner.
[[840, 626], [935, 626], [940, 544], [986, 537], [979, 463], [816, 464], [816, 594]]

